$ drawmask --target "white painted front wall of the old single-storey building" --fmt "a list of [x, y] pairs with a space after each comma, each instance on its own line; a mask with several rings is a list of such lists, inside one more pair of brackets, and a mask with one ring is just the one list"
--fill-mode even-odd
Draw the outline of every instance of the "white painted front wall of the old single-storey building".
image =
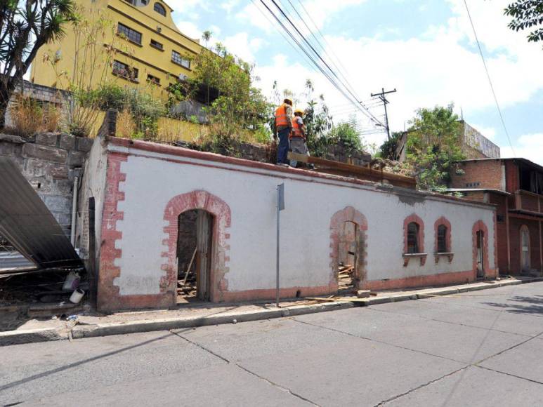
[[[122, 147], [110, 146], [110, 149]], [[126, 151], [126, 149], [124, 149]], [[135, 151], [136, 152], [136, 151]], [[190, 164], [161, 159], [179, 157], [141, 152], [122, 163], [126, 182], [119, 185], [125, 200], [119, 202], [124, 219], [117, 222], [122, 258], [115, 284], [121, 295], [159, 293], [164, 272], [161, 257], [164, 208], [178, 194], [204, 189], [223, 199], [232, 213], [228, 291], [275, 288], [276, 186], [285, 185], [286, 209], [281, 213], [281, 286], [326, 286], [330, 281], [330, 220], [346, 206], [365, 215], [367, 230], [367, 279], [401, 279], [409, 276], [464, 272], [473, 268], [472, 227], [483, 220], [488, 227], [490, 268], [494, 264], [494, 211], [479, 204], [461, 204], [417, 192], [405, 195], [384, 188], [355, 185], [340, 180], [318, 180], [276, 171], [182, 158]], [[232, 169], [243, 170], [230, 171]], [[247, 172], [248, 171], [248, 172]], [[317, 182], [315, 182], [317, 181]], [[323, 185], [322, 182], [328, 185]], [[412, 213], [424, 220], [426, 265], [412, 259], [403, 267], [403, 221]], [[434, 222], [445, 216], [452, 225], [454, 260], [433, 258]]]

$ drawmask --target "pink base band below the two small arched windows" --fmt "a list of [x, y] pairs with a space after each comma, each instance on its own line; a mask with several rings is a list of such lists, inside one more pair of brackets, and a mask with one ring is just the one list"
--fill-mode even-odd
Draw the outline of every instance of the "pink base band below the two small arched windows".
[[405, 279], [393, 280], [374, 280], [367, 281], [364, 284], [364, 289], [379, 291], [379, 290], [396, 290], [398, 288], [415, 288], [428, 286], [445, 286], [454, 283], [467, 283], [475, 281], [476, 274], [473, 270], [467, 272], [450, 272], [440, 274], [430, 274], [428, 276], [412, 276]]

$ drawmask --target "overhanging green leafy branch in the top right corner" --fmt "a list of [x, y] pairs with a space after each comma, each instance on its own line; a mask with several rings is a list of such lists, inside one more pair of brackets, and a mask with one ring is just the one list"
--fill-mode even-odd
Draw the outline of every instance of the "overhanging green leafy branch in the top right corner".
[[505, 8], [504, 14], [513, 18], [509, 28], [515, 31], [532, 29], [528, 41], [543, 40], [543, 0], [516, 0]]

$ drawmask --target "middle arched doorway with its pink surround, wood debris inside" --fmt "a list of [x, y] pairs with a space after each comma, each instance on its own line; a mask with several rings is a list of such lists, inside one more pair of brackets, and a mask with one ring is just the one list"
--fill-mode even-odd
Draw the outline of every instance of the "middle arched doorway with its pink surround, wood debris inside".
[[332, 281], [339, 293], [358, 291], [366, 280], [367, 220], [352, 206], [338, 211], [330, 222]]

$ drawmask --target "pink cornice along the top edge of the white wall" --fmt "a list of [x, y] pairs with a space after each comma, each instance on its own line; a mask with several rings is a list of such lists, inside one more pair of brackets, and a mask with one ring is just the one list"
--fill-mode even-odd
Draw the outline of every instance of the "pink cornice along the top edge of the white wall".
[[[222, 164], [233, 164], [233, 165], [244, 166], [248, 168], [259, 168], [262, 170], [273, 171], [275, 173], [282, 173], [284, 175], [287, 175], [287, 174], [301, 175], [307, 178], [335, 180], [335, 181], [341, 181], [341, 182], [348, 182], [351, 184], [365, 185], [369, 187], [374, 187], [376, 185], [375, 182], [358, 180], [356, 178], [348, 178], [348, 177], [342, 177], [340, 175], [318, 173], [315, 171], [304, 170], [303, 168], [286, 168], [286, 167], [281, 167], [281, 166], [275, 166], [274, 164], [261, 163], [259, 161], [237, 159], [234, 157], [222, 156], [220, 154], [214, 154], [214, 153], [209, 153], [209, 152], [199, 152], [192, 149], [185, 149], [183, 147], [157, 144], [154, 142], [148, 142], [148, 141], [143, 141], [143, 140], [129, 140], [126, 138], [107, 137], [107, 141], [110, 142], [112, 145], [119, 145], [121, 147], [126, 147], [126, 148], [131, 148], [131, 149], [139, 149], [141, 151], [146, 151], [146, 152], [155, 152], [157, 154], [169, 154], [173, 156], [187, 157], [190, 159], [214, 161], [214, 162], [218, 162]], [[130, 155], [137, 156], [138, 154], [134, 154], [131, 152]], [[174, 159], [165, 159], [165, 160], [171, 161], [171, 162], [181, 162], [181, 161], [176, 161]], [[185, 164], [203, 165], [203, 164], [188, 163], [188, 162], [186, 162]], [[226, 169], [231, 170], [231, 168], [226, 168]], [[266, 174], [260, 174], [260, 175], [266, 175]], [[307, 182], [315, 182], [315, 181], [307, 180]], [[379, 191], [379, 189], [377, 189], [377, 192], [382, 192], [384, 194], [390, 193], [390, 192]], [[419, 190], [417, 190], [416, 192], [417, 194], [420, 194], [421, 196], [428, 196], [430, 198], [442, 199], [444, 201], [455, 201], [458, 204], [468, 204], [469, 206], [484, 206], [484, 207], [496, 208], [495, 204], [488, 204], [485, 202], [473, 201], [473, 200], [465, 199], [465, 198], [458, 198], [457, 196], [442, 195], [442, 194], [436, 194], [436, 193], [419, 191]], [[412, 194], [411, 189], [410, 189], [410, 193]]]

